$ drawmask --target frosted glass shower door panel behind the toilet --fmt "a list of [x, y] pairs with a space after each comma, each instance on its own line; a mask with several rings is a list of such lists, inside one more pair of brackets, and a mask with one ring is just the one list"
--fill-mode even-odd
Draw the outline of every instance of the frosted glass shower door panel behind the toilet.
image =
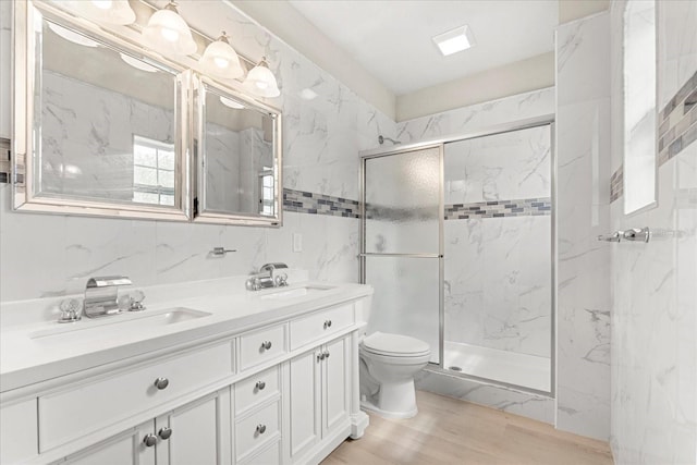
[[440, 363], [441, 146], [364, 158], [362, 279], [368, 331], [420, 339]]

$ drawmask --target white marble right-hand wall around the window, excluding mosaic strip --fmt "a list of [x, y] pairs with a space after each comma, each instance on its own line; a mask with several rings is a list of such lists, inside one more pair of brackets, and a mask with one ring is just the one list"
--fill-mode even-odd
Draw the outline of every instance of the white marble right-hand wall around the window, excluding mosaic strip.
[[[697, 73], [697, 4], [656, 5], [662, 111]], [[624, 8], [625, 1], [611, 4], [613, 172], [622, 169], [624, 148]], [[697, 114], [695, 107], [692, 112]], [[625, 216], [626, 192], [611, 204], [611, 230], [653, 232], [648, 244], [606, 246], [612, 258], [611, 445], [617, 464], [697, 463], [697, 143], [660, 164], [657, 181], [656, 208]]]

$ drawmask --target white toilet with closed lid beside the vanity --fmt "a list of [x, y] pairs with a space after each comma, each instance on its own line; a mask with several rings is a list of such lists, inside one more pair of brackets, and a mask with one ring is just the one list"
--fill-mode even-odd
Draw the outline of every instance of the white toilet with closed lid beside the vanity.
[[430, 346], [418, 339], [376, 331], [364, 338], [360, 406], [387, 418], [416, 415], [414, 375], [428, 364]]

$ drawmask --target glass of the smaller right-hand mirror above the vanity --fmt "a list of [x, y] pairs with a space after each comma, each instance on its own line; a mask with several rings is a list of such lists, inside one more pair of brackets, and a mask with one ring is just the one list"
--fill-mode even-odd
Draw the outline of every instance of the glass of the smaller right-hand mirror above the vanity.
[[274, 217], [274, 115], [201, 83], [203, 213]]

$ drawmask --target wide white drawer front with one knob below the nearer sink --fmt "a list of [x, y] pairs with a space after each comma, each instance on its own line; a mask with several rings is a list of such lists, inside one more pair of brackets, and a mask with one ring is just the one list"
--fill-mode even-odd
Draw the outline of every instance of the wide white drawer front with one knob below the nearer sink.
[[[233, 372], [232, 342], [167, 358], [157, 364], [39, 397], [39, 451], [194, 392]], [[156, 380], [160, 388], [155, 386]]]

